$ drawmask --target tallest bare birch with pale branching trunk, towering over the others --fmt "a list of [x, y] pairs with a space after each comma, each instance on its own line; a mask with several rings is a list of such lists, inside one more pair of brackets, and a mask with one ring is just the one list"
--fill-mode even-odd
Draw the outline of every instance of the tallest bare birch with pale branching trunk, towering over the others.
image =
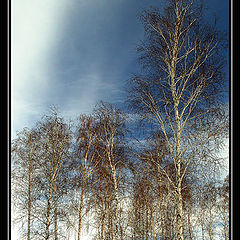
[[219, 144], [228, 126], [218, 101], [224, 82], [220, 35], [200, 16], [190, 0], [169, 1], [164, 14], [145, 11], [146, 41], [139, 47], [145, 75], [130, 81], [132, 109], [159, 127], [174, 164], [174, 179], [160, 168], [174, 189], [176, 239], [183, 239], [188, 167], [207, 146]]

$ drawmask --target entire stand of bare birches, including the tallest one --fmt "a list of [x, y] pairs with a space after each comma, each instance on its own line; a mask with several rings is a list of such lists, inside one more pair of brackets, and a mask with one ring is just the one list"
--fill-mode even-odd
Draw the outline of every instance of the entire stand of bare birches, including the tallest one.
[[228, 40], [197, 2], [167, 2], [139, 15], [123, 109], [101, 101], [66, 120], [51, 107], [12, 140], [21, 239], [229, 239]]

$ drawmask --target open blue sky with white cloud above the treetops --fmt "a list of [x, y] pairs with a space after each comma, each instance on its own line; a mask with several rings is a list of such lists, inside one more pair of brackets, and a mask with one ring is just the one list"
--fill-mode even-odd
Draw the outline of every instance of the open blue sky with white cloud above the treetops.
[[[228, 0], [206, 1], [228, 29]], [[90, 113], [97, 101], [121, 104], [137, 71], [143, 39], [137, 14], [164, 0], [12, 0], [11, 132], [58, 106], [62, 115]]]

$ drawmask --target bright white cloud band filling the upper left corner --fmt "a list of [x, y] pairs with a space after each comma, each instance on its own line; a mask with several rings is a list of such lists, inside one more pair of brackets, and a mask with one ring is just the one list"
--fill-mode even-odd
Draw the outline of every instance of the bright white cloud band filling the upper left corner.
[[11, 129], [42, 111], [48, 91], [48, 57], [64, 20], [67, 0], [11, 3]]

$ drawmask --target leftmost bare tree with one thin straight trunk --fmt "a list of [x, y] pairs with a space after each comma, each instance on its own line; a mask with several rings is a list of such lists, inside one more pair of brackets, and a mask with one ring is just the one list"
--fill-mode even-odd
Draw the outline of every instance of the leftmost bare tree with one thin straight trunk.
[[[36, 169], [36, 152], [38, 145], [37, 134], [33, 129], [23, 129], [12, 142], [12, 197], [20, 214], [20, 221], [24, 221], [27, 211], [27, 239], [31, 239], [32, 201], [34, 199], [32, 175]], [[26, 204], [25, 204], [26, 202]]]

